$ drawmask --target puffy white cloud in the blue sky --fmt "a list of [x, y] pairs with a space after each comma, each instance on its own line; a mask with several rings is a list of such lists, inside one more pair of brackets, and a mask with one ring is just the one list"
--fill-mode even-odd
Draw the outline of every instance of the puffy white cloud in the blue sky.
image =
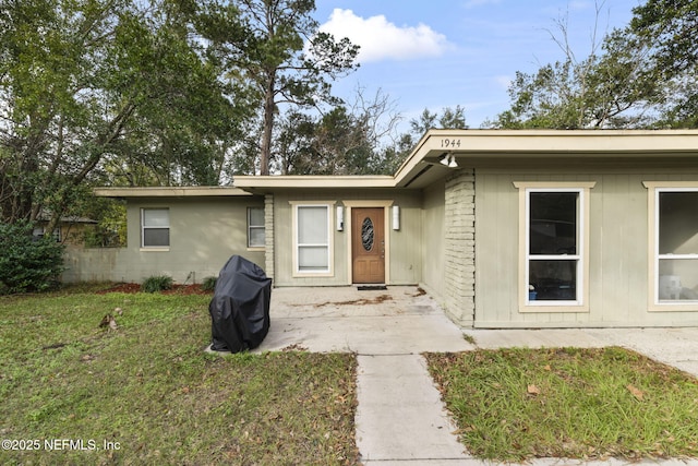
[[437, 57], [453, 47], [446, 36], [428, 25], [398, 27], [382, 14], [364, 19], [351, 10], [335, 9], [320, 29], [334, 35], [335, 39], [348, 37], [360, 46], [361, 63]]

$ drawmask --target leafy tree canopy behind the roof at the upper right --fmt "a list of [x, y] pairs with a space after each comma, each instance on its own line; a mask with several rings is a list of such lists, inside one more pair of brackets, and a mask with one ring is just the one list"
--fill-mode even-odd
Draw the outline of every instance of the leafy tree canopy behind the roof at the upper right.
[[[512, 107], [492, 128], [684, 128], [698, 122], [696, 0], [649, 0], [629, 26], [607, 34], [583, 60], [565, 57], [534, 73], [517, 72]], [[597, 5], [598, 11], [600, 7]]]

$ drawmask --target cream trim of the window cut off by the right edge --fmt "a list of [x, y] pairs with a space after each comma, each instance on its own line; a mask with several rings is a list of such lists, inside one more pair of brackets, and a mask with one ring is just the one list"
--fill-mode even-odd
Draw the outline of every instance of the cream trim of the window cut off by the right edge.
[[[648, 190], [648, 275], [647, 302], [650, 312], [698, 311], [698, 300], [660, 301], [659, 299], [659, 194], [661, 192], [698, 192], [697, 181], [642, 181]], [[674, 259], [696, 259], [698, 254], [676, 254]]]

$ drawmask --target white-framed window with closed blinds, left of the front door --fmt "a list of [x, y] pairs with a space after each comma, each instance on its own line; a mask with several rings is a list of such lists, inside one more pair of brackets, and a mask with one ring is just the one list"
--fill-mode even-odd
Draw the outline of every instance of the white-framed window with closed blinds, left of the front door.
[[330, 263], [330, 206], [296, 205], [296, 272], [327, 274]]

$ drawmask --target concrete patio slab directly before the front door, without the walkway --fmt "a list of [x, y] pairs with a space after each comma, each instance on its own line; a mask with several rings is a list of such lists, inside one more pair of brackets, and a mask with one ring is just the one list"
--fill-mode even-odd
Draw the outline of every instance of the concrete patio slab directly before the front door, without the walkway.
[[406, 355], [472, 349], [462, 332], [417, 287], [275, 288], [272, 327], [258, 348]]

